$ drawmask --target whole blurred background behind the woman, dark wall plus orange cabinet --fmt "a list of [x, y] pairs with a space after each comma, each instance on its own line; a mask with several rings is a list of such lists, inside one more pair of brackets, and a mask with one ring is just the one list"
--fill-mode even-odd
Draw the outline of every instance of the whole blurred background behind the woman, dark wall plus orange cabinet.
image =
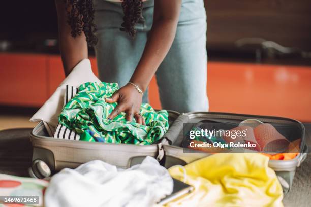
[[[209, 110], [311, 121], [311, 1], [204, 3]], [[2, 129], [27, 121], [65, 75], [54, 1], [4, 1], [0, 18]], [[161, 108], [155, 79], [149, 96]]]

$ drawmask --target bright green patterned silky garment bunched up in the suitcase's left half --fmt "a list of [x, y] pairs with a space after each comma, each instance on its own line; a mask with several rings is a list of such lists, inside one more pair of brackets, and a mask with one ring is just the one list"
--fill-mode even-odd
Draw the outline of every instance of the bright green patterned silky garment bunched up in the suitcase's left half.
[[127, 121], [124, 112], [113, 120], [107, 119], [117, 103], [107, 103], [105, 97], [118, 89], [117, 83], [82, 84], [61, 111], [59, 122], [80, 134], [80, 140], [88, 142], [149, 145], [161, 139], [168, 130], [168, 113], [155, 112], [148, 103], [140, 107], [146, 126], [135, 123], [135, 119]]

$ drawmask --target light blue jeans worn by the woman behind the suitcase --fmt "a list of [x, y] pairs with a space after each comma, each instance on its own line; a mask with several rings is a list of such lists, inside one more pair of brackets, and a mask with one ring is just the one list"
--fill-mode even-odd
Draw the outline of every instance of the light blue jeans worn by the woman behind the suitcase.
[[[123, 22], [121, 4], [94, 0], [99, 40], [95, 51], [102, 81], [124, 86], [130, 80], [152, 26], [153, 4], [153, 0], [144, 2], [145, 23], [136, 25], [137, 34], [132, 39], [119, 30]], [[176, 37], [155, 75], [163, 109], [180, 113], [208, 110], [206, 14], [203, 0], [182, 1]], [[143, 102], [148, 102], [148, 90]]]

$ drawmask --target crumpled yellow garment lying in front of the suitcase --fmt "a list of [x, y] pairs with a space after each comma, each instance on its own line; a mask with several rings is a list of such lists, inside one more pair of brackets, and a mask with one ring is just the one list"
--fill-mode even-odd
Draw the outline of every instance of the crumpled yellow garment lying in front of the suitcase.
[[195, 190], [166, 206], [283, 206], [282, 187], [268, 161], [261, 154], [215, 154], [173, 166], [171, 176]]

